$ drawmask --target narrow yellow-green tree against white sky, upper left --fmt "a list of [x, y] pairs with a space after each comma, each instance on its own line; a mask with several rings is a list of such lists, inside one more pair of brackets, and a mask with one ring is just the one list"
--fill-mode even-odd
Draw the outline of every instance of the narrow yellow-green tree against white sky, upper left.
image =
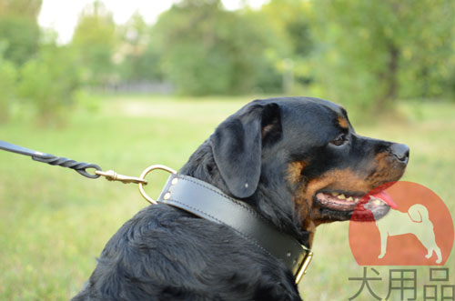
[[100, 1], [87, 5], [79, 16], [71, 45], [85, 68], [86, 82], [106, 84], [113, 74], [116, 25], [112, 14]]

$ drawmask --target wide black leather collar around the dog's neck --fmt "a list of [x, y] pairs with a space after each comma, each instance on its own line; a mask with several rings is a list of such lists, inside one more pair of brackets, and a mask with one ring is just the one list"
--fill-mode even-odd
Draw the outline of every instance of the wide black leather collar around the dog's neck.
[[157, 202], [232, 227], [240, 236], [288, 266], [296, 284], [306, 273], [313, 256], [311, 250], [292, 236], [280, 232], [251, 206], [197, 178], [178, 174], [169, 176]]

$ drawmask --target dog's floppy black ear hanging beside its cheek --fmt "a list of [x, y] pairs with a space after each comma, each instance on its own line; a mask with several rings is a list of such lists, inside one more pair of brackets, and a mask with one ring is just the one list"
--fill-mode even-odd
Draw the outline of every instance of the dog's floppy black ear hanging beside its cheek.
[[246, 105], [210, 136], [215, 163], [233, 196], [248, 197], [258, 188], [263, 139], [278, 126], [277, 104]]

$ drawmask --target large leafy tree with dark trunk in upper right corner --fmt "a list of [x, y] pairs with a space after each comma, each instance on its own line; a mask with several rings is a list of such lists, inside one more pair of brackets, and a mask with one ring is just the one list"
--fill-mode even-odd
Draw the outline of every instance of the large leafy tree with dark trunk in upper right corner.
[[314, 67], [333, 99], [351, 99], [379, 114], [400, 95], [437, 95], [434, 86], [425, 91], [420, 86], [441, 87], [453, 76], [452, 1], [312, 4], [313, 30], [320, 39]]

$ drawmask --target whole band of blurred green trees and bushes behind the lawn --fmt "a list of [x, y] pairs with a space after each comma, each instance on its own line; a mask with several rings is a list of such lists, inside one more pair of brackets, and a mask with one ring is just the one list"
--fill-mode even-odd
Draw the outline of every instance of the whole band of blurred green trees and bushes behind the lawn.
[[[234, 11], [221, 0], [180, 0], [154, 25], [138, 12], [116, 25], [95, 0], [68, 45], [38, 27], [41, 2], [0, 0], [2, 120], [17, 103], [55, 118], [81, 103], [72, 95], [82, 88], [314, 95], [367, 116], [393, 111], [398, 99], [455, 95], [450, 0], [270, 0]], [[153, 90], [163, 84], [171, 88]]]

